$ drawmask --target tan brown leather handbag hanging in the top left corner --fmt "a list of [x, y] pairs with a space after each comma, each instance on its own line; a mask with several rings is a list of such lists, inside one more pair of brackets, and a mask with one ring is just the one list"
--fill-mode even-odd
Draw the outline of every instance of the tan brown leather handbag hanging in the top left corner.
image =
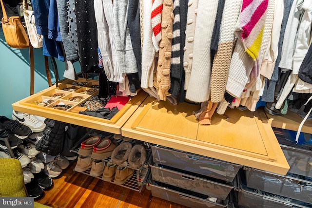
[[12, 48], [28, 48], [28, 36], [23, 24], [21, 23], [20, 17], [7, 17], [4, 4], [2, 0], [0, 1], [3, 12], [3, 18], [1, 19], [2, 30], [6, 43]]

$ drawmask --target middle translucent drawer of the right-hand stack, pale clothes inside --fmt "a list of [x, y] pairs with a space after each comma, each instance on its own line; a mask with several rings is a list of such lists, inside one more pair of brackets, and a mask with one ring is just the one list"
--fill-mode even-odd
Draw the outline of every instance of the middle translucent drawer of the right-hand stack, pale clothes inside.
[[247, 187], [252, 189], [259, 189], [312, 204], [312, 181], [252, 168], [246, 170], [246, 183]]

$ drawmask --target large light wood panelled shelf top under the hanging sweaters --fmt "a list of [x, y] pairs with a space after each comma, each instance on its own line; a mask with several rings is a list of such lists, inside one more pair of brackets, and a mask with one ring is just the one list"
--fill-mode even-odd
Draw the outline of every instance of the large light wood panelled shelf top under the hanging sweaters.
[[148, 97], [121, 128], [122, 134], [149, 143], [286, 174], [287, 160], [263, 111], [228, 109], [215, 113], [212, 125], [200, 126], [199, 105], [156, 101]]

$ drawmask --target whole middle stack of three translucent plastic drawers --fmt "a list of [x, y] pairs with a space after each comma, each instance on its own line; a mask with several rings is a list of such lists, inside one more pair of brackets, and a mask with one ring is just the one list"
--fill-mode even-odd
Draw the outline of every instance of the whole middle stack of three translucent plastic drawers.
[[242, 166], [159, 145], [151, 149], [153, 196], [192, 208], [229, 207], [228, 195]]

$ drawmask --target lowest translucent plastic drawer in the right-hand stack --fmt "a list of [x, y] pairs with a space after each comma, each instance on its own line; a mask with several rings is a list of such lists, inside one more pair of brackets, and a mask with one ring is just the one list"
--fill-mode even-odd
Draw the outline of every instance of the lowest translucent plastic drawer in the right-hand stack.
[[311, 204], [257, 191], [244, 185], [240, 185], [237, 200], [239, 208], [312, 208]]

